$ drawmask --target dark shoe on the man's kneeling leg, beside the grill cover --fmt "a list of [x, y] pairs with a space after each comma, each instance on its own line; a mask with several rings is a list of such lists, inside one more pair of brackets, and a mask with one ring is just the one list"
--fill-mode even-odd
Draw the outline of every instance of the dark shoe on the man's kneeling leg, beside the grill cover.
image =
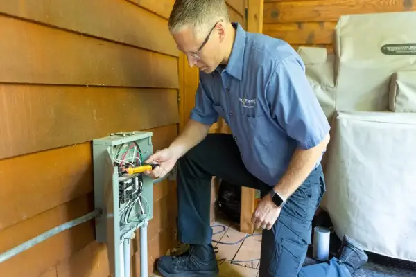
[[343, 244], [338, 250], [338, 262], [347, 267], [349, 273], [352, 275], [354, 271], [360, 269], [368, 260], [367, 254], [364, 252], [358, 242], [352, 238], [344, 235]]

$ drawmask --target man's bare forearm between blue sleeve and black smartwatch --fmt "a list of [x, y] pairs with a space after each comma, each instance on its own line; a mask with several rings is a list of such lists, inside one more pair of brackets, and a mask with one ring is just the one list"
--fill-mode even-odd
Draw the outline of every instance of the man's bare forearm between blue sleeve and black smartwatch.
[[325, 139], [314, 148], [309, 150], [295, 150], [291, 162], [289, 163], [288, 169], [286, 170], [283, 177], [280, 179], [274, 187], [282, 197], [287, 199], [309, 176], [320, 155], [327, 147], [329, 142], [329, 134]]

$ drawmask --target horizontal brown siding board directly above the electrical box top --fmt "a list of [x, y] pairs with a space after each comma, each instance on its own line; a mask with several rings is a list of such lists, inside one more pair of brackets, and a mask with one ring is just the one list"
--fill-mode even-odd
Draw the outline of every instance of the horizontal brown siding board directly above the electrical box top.
[[179, 122], [174, 89], [3, 84], [0, 109], [0, 159]]

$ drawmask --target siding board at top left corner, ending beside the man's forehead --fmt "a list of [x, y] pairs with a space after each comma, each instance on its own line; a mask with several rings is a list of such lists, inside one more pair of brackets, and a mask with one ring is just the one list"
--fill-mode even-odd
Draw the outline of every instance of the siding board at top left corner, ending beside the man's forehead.
[[[91, 11], [94, 10], [94, 16]], [[168, 23], [128, 1], [0, 1], [0, 13], [122, 44], [178, 56]], [[157, 35], [154, 35], [157, 33]]]

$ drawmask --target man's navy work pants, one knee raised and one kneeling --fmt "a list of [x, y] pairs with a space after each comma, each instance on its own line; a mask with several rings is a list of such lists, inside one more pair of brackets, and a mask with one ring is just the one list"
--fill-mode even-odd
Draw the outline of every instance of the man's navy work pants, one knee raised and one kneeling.
[[[183, 243], [211, 243], [212, 176], [259, 189], [262, 196], [272, 189], [245, 168], [232, 135], [208, 134], [177, 161], [177, 228]], [[259, 277], [351, 276], [336, 258], [302, 267], [311, 243], [311, 222], [324, 190], [322, 167], [318, 166], [288, 199], [272, 229], [263, 230]]]

